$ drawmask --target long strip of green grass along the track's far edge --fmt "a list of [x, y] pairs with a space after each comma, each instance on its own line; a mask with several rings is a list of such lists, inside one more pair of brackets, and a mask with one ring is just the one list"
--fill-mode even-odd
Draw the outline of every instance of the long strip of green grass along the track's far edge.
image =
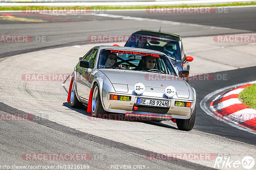
[[[0, 4], [1, 5], [1, 4]], [[240, 6], [240, 5], [256, 5], [256, 2], [248, 2], [248, 3], [228, 3], [228, 4], [212, 4], [212, 5], [178, 5], [178, 6], [101, 6], [101, 9], [104, 10], [116, 10], [116, 9], [148, 9], [148, 8], [189, 8], [189, 7], [211, 7], [211, 6]], [[25, 10], [26, 7], [30, 8], [39, 8], [39, 7], [52, 7], [52, 6], [0, 6], [0, 11], [21, 11]], [[63, 9], [64, 7], [56, 7], [56, 10]], [[99, 9], [99, 6], [68, 6], [68, 7], [85, 7], [86, 9]]]

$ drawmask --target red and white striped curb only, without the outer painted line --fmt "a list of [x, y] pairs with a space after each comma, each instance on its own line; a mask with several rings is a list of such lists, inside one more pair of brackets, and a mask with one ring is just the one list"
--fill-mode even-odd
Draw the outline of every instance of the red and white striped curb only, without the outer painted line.
[[218, 115], [217, 120], [231, 121], [256, 131], [256, 110], [238, 100], [238, 94], [250, 85], [252, 83], [229, 90], [211, 102], [210, 108]]

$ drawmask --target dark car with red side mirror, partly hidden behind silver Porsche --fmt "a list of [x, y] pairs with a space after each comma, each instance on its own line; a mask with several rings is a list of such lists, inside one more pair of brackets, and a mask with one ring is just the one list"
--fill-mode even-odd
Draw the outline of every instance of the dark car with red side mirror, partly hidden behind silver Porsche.
[[132, 33], [124, 46], [156, 50], [165, 53], [174, 66], [180, 70], [189, 71], [188, 61], [193, 57], [186, 56], [179, 35], [161, 32], [140, 30]]

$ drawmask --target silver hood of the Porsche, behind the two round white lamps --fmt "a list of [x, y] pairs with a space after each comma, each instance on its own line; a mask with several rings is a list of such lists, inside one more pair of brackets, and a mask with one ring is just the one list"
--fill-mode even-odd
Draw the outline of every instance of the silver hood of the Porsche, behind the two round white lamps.
[[[143, 83], [146, 87], [143, 95], [147, 93], [149, 96], [154, 95], [152, 94], [153, 91], [155, 91], [155, 93], [164, 94], [164, 89], [167, 86], [173, 86], [176, 89], [176, 94], [178, 97], [189, 97], [188, 85], [186, 82], [175, 75], [106, 68], [100, 69], [100, 71], [108, 77], [112, 84], [127, 84], [128, 91], [130, 93], [132, 93], [134, 85], [137, 82], [140, 82]], [[152, 90], [152, 88], [154, 90]], [[160, 95], [160, 97], [163, 96]]]

